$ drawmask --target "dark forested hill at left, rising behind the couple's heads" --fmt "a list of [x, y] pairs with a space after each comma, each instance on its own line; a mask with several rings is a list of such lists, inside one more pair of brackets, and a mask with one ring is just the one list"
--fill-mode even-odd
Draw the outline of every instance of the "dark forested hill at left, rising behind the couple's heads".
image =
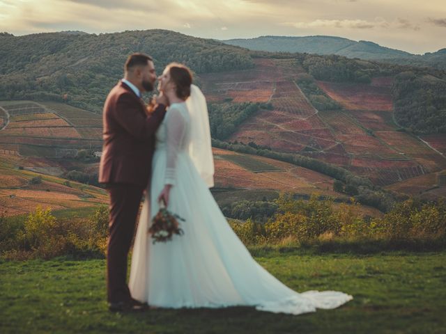
[[249, 51], [153, 29], [123, 33], [0, 34], [0, 100], [52, 100], [100, 112], [128, 54], [154, 58], [158, 73], [180, 61], [194, 72], [252, 67]]

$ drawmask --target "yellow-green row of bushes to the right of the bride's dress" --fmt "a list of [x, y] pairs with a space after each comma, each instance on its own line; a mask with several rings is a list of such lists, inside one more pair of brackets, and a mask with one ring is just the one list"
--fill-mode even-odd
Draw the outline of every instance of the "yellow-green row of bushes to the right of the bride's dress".
[[[382, 218], [364, 216], [361, 205], [351, 199], [335, 208], [332, 200], [318, 200], [314, 195], [308, 202], [293, 200], [290, 193], [277, 200], [277, 213], [267, 223], [252, 219], [246, 223], [232, 222], [233, 230], [245, 244], [283, 244], [298, 242], [354, 242], [360, 244], [446, 246], [445, 202], [422, 203], [413, 199], [395, 205]], [[406, 247], [405, 246], [405, 247]]]

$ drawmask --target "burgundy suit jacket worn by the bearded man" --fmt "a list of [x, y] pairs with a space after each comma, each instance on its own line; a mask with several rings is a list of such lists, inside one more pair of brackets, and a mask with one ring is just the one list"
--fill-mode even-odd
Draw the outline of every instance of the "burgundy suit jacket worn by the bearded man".
[[146, 187], [151, 176], [155, 132], [166, 107], [158, 105], [151, 116], [132, 88], [120, 81], [107, 96], [102, 122], [102, 157], [99, 182]]

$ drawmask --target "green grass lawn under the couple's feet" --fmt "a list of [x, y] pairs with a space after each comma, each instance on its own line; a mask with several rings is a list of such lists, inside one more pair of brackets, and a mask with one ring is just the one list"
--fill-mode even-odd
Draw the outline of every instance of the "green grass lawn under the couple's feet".
[[[297, 291], [354, 296], [336, 310], [291, 316], [253, 308], [114, 314], [105, 261], [0, 262], [1, 333], [445, 333], [446, 253], [264, 251], [263, 267]], [[160, 287], [162, 288], [162, 287]]]

